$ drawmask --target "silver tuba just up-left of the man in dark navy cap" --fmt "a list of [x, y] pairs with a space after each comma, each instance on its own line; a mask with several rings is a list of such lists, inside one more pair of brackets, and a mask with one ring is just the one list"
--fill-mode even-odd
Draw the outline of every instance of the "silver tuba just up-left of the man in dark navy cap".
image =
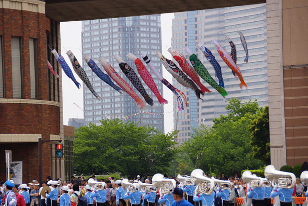
[[162, 195], [171, 194], [174, 188], [176, 188], [176, 182], [174, 179], [166, 179], [160, 173], [154, 174], [152, 177], [152, 183], [155, 187], [159, 188], [159, 192]]

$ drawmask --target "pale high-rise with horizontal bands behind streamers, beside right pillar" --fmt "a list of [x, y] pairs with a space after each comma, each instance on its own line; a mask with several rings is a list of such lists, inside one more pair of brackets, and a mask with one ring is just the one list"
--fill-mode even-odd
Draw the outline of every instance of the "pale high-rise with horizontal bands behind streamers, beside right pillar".
[[[267, 70], [267, 33], [266, 4], [217, 8], [210, 10], [175, 13], [172, 20], [172, 47], [183, 52], [184, 46], [196, 53], [209, 73], [215, 78], [212, 65], [195, 46], [201, 43], [210, 49], [222, 67], [222, 74], [228, 98], [237, 97], [242, 101], [257, 99], [260, 106], [268, 105], [268, 70]], [[237, 30], [241, 31], [247, 41], [249, 62], [246, 57]], [[234, 42], [237, 49], [237, 66], [241, 69], [248, 89], [239, 87], [239, 80], [219, 56], [211, 43], [217, 40], [228, 52], [231, 47], [226, 36]], [[186, 57], [188, 57], [186, 55]], [[202, 79], [201, 79], [202, 80]], [[218, 80], [216, 79], [218, 82]], [[209, 84], [203, 81], [213, 93], [206, 93], [204, 100], [198, 100], [191, 89], [173, 81], [177, 88], [185, 91], [189, 97], [189, 107], [184, 112], [174, 113], [174, 129], [179, 130], [178, 142], [191, 137], [192, 129], [200, 124], [211, 126], [212, 119], [226, 115], [225, 99]], [[176, 110], [175, 110], [176, 111]]]

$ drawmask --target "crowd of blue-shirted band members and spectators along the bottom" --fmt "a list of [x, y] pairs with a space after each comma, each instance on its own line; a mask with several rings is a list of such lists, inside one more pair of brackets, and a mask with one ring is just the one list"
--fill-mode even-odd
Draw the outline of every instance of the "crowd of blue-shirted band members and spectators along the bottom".
[[[164, 175], [164, 178], [170, 177]], [[98, 180], [95, 175], [89, 179], [72, 176], [70, 181], [62, 181], [61, 178], [52, 180], [48, 176], [40, 185], [37, 180], [21, 185], [10, 180], [1, 182], [0, 201], [2, 206], [235, 206], [236, 198], [243, 198], [244, 206], [270, 206], [270, 198], [283, 196], [280, 197], [280, 205], [283, 206], [283, 202], [291, 202], [292, 196], [308, 195], [305, 192], [307, 187], [300, 183], [299, 178], [291, 195], [282, 194], [271, 186], [261, 190], [250, 188], [249, 184], [245, 184], [236, 174], [227, 178], [222, 173], [219, 179], [229, 180], [229, 188], [215, 187], [210, 195], [199, 193], [195, 185], [185, 185], [185, 182], [171, 178], [176, 181], [177, 187], [169, 194], [163, 194], [159, 188], [152, 187], [147, 176], [141, 179], [139, 175], [134, 178], [129, 176], [125, 180], [134, 185], [134, 191], [123, 188], [123, 178], [115, 180], [114, 177], [109, 177]], [[144, 189], [145, 185], [148, 189]], [[259, 200], [265, 201], [259, 204]]]

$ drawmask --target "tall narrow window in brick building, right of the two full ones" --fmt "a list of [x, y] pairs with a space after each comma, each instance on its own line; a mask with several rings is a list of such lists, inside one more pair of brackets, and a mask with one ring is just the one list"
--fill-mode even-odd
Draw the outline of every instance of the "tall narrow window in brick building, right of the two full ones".
[[37, 54], [37, 40], [29, 39], [29, 53], [30, 53], [30, 87], [31, 98], [35, 99], [38, 96], [38, 54]]

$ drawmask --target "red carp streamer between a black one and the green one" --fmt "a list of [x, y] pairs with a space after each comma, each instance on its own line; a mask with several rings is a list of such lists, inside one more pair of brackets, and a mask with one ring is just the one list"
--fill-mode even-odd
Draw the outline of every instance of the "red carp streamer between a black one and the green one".
[[184, 55], [180, 52], [175, 51], [171, 47], [168, 49], [169, 53], [173, 56], [173, 58], [179, 63], [180, 67], [182, 68], [183, 72], [185, 72], [190, 78], [192, 78], [192, 81], [195, 82], [199, 87], [200, 90], [204, 92], [211, 92], [208, 88], [206, 88], [201, 82], [198, 74], [196, 71], [192, 68], [192, 66], [188, 63], [188, 61], [185, 59]]

